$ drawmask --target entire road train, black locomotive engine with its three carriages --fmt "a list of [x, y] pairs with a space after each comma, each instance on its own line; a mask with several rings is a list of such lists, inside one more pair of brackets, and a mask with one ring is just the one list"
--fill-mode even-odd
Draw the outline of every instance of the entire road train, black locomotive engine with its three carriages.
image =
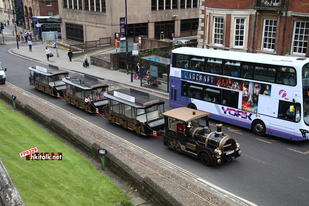
[[[87, 75], [70, 77], [58, 68], [29, 67], [30, 85], [91, 113], [97, 113], [143, 136], [163, 139], [177, 153], [198, 158], [205, 166], [237, 158], [242, 151], [234, 138], [224, 134], [222, 124], [210, 130], [208, 115], [187, 107], [164, 112], [164, 101], [138, 90], [108, 91], [108, 85]], [[203, 124], [202, 121], [205, 120]]]

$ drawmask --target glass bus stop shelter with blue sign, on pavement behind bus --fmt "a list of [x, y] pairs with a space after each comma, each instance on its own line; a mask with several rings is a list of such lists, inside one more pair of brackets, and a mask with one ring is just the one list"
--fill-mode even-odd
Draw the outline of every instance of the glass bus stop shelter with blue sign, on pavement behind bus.
[[[169, 75], [171, 59], [151, 55], [141, 58], [141, 86], [151, 86], [169, 92]], [[148, 77], [147, 70], [150, 70]]]

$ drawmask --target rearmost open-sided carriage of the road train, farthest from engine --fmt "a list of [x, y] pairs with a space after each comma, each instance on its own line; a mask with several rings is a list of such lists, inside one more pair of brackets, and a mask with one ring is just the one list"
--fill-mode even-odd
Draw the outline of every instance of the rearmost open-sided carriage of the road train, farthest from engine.
[[43, 91], [49, 95], [63, 98], [63, 90], [66, 84], [62, 78], [68, 76], [68, 72], [58, 69], [58, 67], [44, 68], [36, 65], [29, 67], [29, 82], [37, 90]]

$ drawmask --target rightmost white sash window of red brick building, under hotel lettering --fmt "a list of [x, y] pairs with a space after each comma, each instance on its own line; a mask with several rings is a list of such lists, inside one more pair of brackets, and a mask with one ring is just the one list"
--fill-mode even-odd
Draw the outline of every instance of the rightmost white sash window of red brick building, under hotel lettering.
[[292, 39], [292, 54], [306, 54], [309, 21], [295, 21]]

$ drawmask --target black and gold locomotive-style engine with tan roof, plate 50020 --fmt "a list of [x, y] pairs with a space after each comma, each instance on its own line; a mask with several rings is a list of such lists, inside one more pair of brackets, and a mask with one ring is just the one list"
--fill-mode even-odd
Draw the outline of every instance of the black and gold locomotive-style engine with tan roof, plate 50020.
[[[216, 124], [217, 131], [211, 131], [208, 123], [209, 113], [195, 111], [187, 107], [180, 107], [164, 112], [165, 146], [175, 152], [186, 153], [199, 158], [201, 162], [210, 166], [222, 161], [229, 161], [241, 155], [239, 143], [232, 137], [223, 134], [222, 124]], [[201, 118], [206, 118], [206, 124], [201, 124]]]

